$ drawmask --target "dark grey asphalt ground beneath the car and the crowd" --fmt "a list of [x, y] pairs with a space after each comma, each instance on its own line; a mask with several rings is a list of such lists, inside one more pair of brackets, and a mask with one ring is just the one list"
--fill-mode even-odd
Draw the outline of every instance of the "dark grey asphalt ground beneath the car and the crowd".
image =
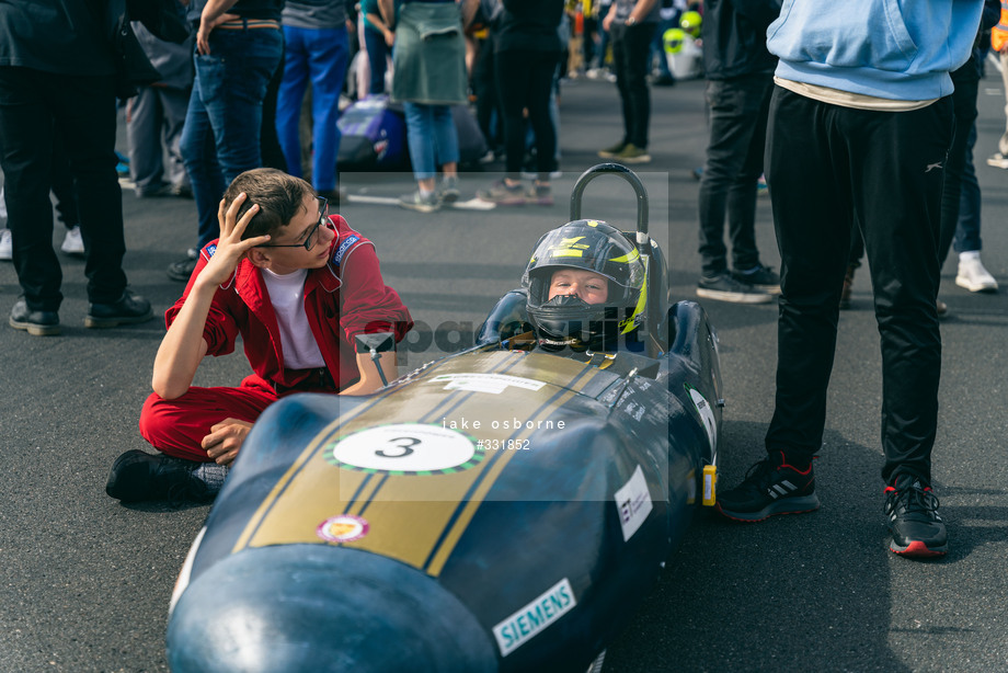
[[[654, 161], [640, 170], [673, 296], [683, 298], [695, 298], [699, 274], [690, 171], [702, 163], [706, 146], [702, 90], [699, 81], [653, 90]], [[933, 459], [950, 554], [919, 562], [886, 549], [879, 339], [861, 270], [854, 308], [841, 316], [816, 463], [822, 509], [748, 526], [698, 516], [609, 647], [607, 671], [1008, 671], [1008, 172], [984, 162], [1004, 129], [1004, 104], [992, 70], [981, 85], [976, 156], [983, 259], [1003, 289], [972, 295], [957, 287], [954, 255], [942, 275], [941, 298], [952, 317], [942, 323]], [[615, 84], [565, 85], [561, 118], [564, 174], [554, 182], [552, 207], [421, 216], [343, 206], [376, 242], [387, 282], [422, 328], [408, 366], [471, 340], [496, 298], [517, 286], [537, 238], [566, 221], [573, 181], [599, 162], [598, 148], [619, 139]], [[465, 174], [463, 195], [493, 178]], [[357, 194], [397, 196], [413, 183], [408, 174], [371, 173], [345, 174], [344, 184]], [[164, 269], [194, 243], [195, 207], [137, 199], [128, 190], [123, 198], [126, 271], [160, 313], [182, 290]], [[596, 180], [584, 213], [632, 228], [632, 192], [615, 178]], [[767, 198], [759, 203], [757, 237], [764, 262], [778, 266]], [[57, 231], [54, 244], [61, 240]], [[113, 459], [145, 446], [137, 417], [164, 328], [158, 319], [85, 330], [83, 262], [62, 261], [62, 335], [33, 338], [0, 327], [0, 671], [164, 671], [169, 596], [208, 507], [123, 506], [103, 488]], [[11, 265], [0, 264], [0, 310], [18, 295]], [[775, 305], [705, 306], [720, 334], [726, 396], [721, 484], [734, 484], [764, 450], [777, 311]], [[237, 384], [247, 370], [240, 352], [209, 358], [196, 383]]]

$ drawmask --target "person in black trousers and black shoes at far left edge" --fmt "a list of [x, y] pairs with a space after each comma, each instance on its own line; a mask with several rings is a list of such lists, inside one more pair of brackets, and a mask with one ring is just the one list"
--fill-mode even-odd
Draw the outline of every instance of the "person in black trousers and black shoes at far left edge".
[[87, 249], [84, 327], [142, 322], [150, 303], [126, 287], [123, 194], [115, 172], [116, 78], [104, 3], [0, 3], [0, 166], [22, 296], [10, 324], [59, 333], [62, 270], [53, 250], [54, 128], [65, 140]]

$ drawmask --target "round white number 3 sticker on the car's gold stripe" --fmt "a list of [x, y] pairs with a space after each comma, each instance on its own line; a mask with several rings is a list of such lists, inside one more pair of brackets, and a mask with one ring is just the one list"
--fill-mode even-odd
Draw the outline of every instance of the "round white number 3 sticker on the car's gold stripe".
[[448, 475], [469, 469], [483, 452], [469, 435], [443, 425], [392, 423], [351, 433], [327, 447], [333, 465], [390, 475]]

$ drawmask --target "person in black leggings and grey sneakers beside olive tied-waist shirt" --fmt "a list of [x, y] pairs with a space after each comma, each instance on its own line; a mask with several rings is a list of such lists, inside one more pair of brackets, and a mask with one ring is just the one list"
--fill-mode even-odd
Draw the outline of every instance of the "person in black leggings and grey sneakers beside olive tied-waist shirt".
[[[560, 60], [557, 28], [563, 0], [504, 0], [494, 26], [494, 76], [497, 101], [504, 113], [504, 147], [507, 173], [479, 197], [502, 206], [526, 201], [553, 203], [550, 173], [557, 169], [557, 132], [550, 121], [553, 75]], [[526, 192], [522, 186], [525, 158], [525, 116], [536, 133], [537, 179]]]

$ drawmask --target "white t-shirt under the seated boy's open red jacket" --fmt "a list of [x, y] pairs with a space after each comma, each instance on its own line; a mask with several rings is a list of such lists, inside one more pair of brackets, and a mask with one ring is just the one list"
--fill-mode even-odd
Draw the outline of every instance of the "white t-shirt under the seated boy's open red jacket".
[[305, 312], [305, 280], [308, 270], [279, 275], [263, 269], [263, 281], [280, 328], [280, 353], [288, 369], [324, 367], [322, 351], [311, 333], [308, 313]]

